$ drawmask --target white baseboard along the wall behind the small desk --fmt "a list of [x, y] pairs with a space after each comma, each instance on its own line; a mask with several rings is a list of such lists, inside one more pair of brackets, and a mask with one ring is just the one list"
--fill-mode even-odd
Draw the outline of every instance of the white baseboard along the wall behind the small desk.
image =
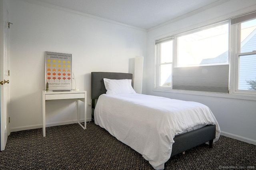
[[[84, 119], [80, 119], [80, 122], [83, 122], [83, 121], [84, 121]], [[87, 118], [86, 121], [91, 121], [91, 119]], [[72, 121], [60, 121], [60, 122], [54, 122], [54, 123], [46, 123], [46, 127], [68, 125], [68, 124], [73, 124], [73, 123], [77, 123], [77, 119], [76, 120], [72, 120]], [[11, 127], [10, 131], [11, 132], [25, 131], [25, 130], [30, 130], [30, 129], [38, 129], [38, 128], [42, 128], [42, 127], [43, 127], [42, 124], [20, 126], [20, 127]]]

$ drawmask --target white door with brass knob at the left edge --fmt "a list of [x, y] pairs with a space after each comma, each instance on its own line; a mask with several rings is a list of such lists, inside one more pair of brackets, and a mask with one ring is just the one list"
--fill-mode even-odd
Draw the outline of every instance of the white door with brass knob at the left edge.
[[9, 35], [8, 6], [5, 0], [0, 0], [0, 145], [5, 149], [9, 129]]

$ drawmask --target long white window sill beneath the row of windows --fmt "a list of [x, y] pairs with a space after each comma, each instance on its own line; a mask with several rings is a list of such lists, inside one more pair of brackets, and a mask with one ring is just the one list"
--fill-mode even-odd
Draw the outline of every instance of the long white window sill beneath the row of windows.
[[189, 90], [174, 90], [170, 88], [154, 88], [154, 92], [167, 92], [167, 93], [178, 93], [178, 94], [192, 94], [198, 96], [211, 96], [218, 98], [232, 98], [241, 100], [254, 100], [256, 101], [256, 95], [254, 94], [226, 94], [226, 93], [215, 93], [215, 92], [200, 92], [200, 91], [189, 91]]

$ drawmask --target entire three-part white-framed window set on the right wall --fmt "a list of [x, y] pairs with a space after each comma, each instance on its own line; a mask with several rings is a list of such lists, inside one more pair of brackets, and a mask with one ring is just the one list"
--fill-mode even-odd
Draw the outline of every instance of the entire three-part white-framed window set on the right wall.
[[254, 98], [256, 12], [156, 40], [156, 62], [156, 88]]

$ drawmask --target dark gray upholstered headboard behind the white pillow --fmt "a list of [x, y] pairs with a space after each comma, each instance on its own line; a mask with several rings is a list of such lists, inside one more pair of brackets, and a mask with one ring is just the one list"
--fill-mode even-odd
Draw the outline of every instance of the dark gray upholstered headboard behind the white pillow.
[[132, 79], [132, 74], [122, 72], [92, 72], [92, 86], [91, 86], [91, 97], [92, 97], [92, 118], [94, 118], [95, 100], [101, 94], [106, 93], [106, 88], [103, 82], [103, 78], [109, 79]]

